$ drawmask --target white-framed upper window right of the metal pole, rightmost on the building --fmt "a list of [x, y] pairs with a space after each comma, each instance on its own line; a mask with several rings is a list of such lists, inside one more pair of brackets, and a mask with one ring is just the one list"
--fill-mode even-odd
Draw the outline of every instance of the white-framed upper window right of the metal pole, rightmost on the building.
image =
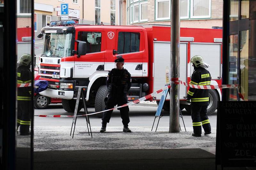
[[191, 0], [190, 18], [211, 18], [211, 0]]

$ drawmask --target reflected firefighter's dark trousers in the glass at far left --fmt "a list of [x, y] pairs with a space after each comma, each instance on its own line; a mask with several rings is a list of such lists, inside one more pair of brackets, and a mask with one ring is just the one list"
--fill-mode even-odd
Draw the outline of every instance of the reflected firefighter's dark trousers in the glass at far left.
[[17, 101], [17, 128], [20, 126], [20, 133], [28, 133], [32, 113], [32, 101]]

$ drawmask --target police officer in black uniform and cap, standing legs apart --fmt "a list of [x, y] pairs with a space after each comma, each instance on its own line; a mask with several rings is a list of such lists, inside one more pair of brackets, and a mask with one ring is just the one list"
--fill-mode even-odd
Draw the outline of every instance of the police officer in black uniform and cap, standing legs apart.
[[[127, 103], [126, 94], [132, 85], [131, 74], [123, 67], [124, 59], [118, 58], [115, 60], [115, 63], [116, 63], [116, 68], [113, 68], [108, 73], [108, 77], [107, 77], [107, 87], [109, 92], [108, 100], [106, 102], [107, 110], [114, 108], [116, 104], [117, 106], [126, 104]], [[128, 128], [128, 123], [130, 122], [128, 106], [119, 108], [118, 110], [120, 110], [122, 123], [124, 125], [123, 131], [131, 132], [131, 130]], [[107, 123], [109, 123], [112, 112], [113, 110], [103, 113], [102, 127], [100, 129], [100, 132], [106, 131], [106, 126], [107, 126]]]

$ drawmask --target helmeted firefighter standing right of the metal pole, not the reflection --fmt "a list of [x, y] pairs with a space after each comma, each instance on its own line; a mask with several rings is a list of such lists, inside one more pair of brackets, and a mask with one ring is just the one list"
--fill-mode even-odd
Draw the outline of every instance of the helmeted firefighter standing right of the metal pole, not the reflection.
[[[194, 72], [191, 76], [191, 85], [210, 85], [211, 84], [211, 74], [205, 68], [209, 65], [206, 64], [200, 55], [196, 55], [191, 58], [191, 63], [193, 63]], [[187, 94], [187, 102], [190, 103], [191, 100], [191, 117], [193, 122], [192, 136], [200, 137], [202, 133], [202, 127], [204, 128], [204, 135], [211, 133], [211, 125], [206, 114], [207, 105], [209, 102], [209, 90], [208, 89], [195, 89], [189, 88]]]

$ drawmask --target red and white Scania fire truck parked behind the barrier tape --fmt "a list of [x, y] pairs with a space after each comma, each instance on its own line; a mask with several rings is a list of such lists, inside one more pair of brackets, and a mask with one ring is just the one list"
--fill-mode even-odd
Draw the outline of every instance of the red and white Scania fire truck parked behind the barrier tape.
[[[85, 86], [86, 100], [95, 104], [95, 111], [105, 108], [106, 77], [115, 67], [114, 60], [125, 59], [124, 68], [132, 75], [128, 101], [146, 96], [165, 85], [165, 69], [170, 66], [170, 25], [110, 26], [83, 25], [73, 21], [52, 21], [44, 27], [40, 57], [40, 79], [49, 82], [41, 95], [61, 98], [68, 112], [75, 109], [77, 86]], [[222, 30], [180, 29], [180, 80], [189, 82], [193, 73], [189, 60], [202, 55], [212, 75], [212, 85], [221, 84]], [[188, 109], [188, 88], [180, 86], [180, 107]], [[160, 100], [156, 95], [150, 100]], [[170, 97], [168, 97], [170, 99]], [[217, 108], [219, 89], [210, 90], [208, 113]], [[166, 101], [164, 109], [168, 110]], [[81, 106], [78, 108], [79, 110]], [[98, 115], [101, 117], [102, 115]]]

